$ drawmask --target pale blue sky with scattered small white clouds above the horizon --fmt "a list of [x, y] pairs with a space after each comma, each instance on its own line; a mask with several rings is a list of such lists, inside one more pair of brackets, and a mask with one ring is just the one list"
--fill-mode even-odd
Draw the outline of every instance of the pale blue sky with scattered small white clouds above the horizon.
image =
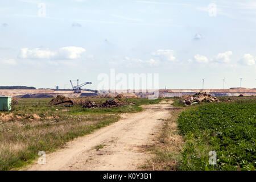
[[159, 74], [159, 89], [256, 88], [256, 1], [0, 0], [0, 85]]

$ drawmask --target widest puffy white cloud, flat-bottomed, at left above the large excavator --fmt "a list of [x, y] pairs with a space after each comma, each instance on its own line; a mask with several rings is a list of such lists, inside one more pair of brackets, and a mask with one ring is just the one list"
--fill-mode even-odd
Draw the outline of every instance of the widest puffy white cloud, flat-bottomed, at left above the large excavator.
[[50, 49], [20, 49], [18, 57], [20, 59], [77, 59], [81, 53], [85, 52], [82, 47], [62, 47], [57, 51], [51, 51]]

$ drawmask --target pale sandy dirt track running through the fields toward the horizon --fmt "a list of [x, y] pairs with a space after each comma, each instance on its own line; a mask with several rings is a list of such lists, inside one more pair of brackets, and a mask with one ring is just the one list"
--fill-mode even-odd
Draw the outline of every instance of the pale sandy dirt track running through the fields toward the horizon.
[[[122, 114], [110, 126], [79, 137], [67, 146], [46, 155], [46, 164], [32, 164], [28, 170], [137, 170], [150, 154], [144, 151], [154, 143], [154, 134], [163, 119], [170, 117], [171, 101], [143, 105], [141, 113]], [[99, 150], [96, 146], [101, 145]]]

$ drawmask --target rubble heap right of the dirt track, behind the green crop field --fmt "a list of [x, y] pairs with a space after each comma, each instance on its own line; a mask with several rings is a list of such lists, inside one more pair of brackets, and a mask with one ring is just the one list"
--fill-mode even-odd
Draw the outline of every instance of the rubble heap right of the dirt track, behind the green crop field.
[[200, 102], [220, 102], [217, 97], [212, 97], [209, 92], [199, 92], [194, 95], [185, 95], [181, 97], [180, 104], [184, 106], [199, 104]]

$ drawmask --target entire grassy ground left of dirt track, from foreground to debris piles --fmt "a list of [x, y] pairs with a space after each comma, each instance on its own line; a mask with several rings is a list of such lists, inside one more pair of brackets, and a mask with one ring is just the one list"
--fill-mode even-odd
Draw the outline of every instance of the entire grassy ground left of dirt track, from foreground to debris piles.
[[[51, 152], [65, 142], [117, 122], [119, 113], [142, 111], [139, 105], [156, 104], [159, 100], [127, 99], [133, 105], [82, 109], [79, 106], [48, 105], [49, 98], [24, 98], [9, 112], [9, 121], [0, 121], [0, 170], [26, 165], [39, 151]], [[97, 104], [105, 98], [91, 98]]]

